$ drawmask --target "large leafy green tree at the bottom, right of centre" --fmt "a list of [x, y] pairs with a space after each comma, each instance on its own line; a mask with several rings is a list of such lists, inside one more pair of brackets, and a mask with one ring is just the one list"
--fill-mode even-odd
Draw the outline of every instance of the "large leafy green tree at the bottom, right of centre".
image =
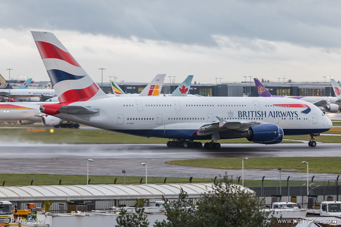
[[[223, 176], [213, 184], [208, 193], [202, 195], [196, 206], [188, 204], [186, 192], [181, 190], [174, 208], [165, 206], [167, 220], [156, 222], [155, 227], [273, 227], [277, 218], [270, 212], [258, 208], [258, 198], [251, 190], [234, 184]], [[189, 209], [183, 209], [189, 205]], [[182, 209], [180, 209], [182, 208]]]

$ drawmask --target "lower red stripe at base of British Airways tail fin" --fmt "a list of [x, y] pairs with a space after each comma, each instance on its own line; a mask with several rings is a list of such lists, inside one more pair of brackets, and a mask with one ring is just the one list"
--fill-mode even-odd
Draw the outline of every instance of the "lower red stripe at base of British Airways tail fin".
[[90, 86], [82, 89], [73, 89], [64, 92], [58, 97], [60, 102], [78, 102], [86, 101], [92, 98], [100, 88], [93, 83]]

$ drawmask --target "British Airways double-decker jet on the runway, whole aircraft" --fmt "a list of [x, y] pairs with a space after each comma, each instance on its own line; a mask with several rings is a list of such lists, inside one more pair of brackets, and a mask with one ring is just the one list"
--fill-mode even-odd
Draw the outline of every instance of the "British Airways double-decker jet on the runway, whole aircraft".
[[311, 135], [332, 124], [311, 103], [258, 97], [110, 97], [77, 63], [57, 37], [34, 32], [33, 38], [55, 88], [59, 103], [42, 104], [41, 112], [96, 128], [145, 137], [173, 139], [168, 146], [202, 147], [194, 140], [246, 137], [277, 144], [283, 135]]

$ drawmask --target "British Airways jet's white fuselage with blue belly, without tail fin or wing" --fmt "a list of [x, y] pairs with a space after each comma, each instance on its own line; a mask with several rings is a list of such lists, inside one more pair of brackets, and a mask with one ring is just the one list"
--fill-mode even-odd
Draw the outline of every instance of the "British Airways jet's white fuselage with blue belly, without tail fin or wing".
[[[69, 106], [83, 106], [99, 112], [91, 115], [59, 113], [55, 116], [111, 131], [173, 139], [207, 139], [193, 135], [201, 126], [216, 121], [216, 116], [275, 123], [283, 129], [284, 135], [321, 133], [332, 126], [330, 119], [313, 104], [275, 97], [122, 96], [74, 102]], [[236, 136], [221, 139], [233, 137]]]

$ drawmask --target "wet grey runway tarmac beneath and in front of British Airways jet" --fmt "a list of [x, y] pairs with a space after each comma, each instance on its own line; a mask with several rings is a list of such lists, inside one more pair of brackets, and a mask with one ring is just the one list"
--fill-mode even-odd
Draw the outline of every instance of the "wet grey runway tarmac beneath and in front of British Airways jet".
[[[0, 150], [1, 173], [45, 173], [45, 174], [81, 174], [86, 175], [87, 159], [90, 175], [144, 176], [145, 162], [148, 176], [160, 177], [205, 177], [213, 178], [227, 172], [228, 175], [240, 176], [241, 170], [197, 168], [167, 165], [164, 162], [178, 159], [199, 158], [244, 158], [244, 157], [303, 157], [341, 156], [341, 144], [222, 144], [221, 149], [184, 149], [169, 148], [164, 144], [3, 144]], [[241, 161], [240, 161], [241, 162]], [[277, 179], [278, 170], [244, 170], [245, 179]], [[285, 173], [282, 177], [304, 179], [302, 173]], [[336, 178], [335, 174], [311, 174], [318, 178]]]

